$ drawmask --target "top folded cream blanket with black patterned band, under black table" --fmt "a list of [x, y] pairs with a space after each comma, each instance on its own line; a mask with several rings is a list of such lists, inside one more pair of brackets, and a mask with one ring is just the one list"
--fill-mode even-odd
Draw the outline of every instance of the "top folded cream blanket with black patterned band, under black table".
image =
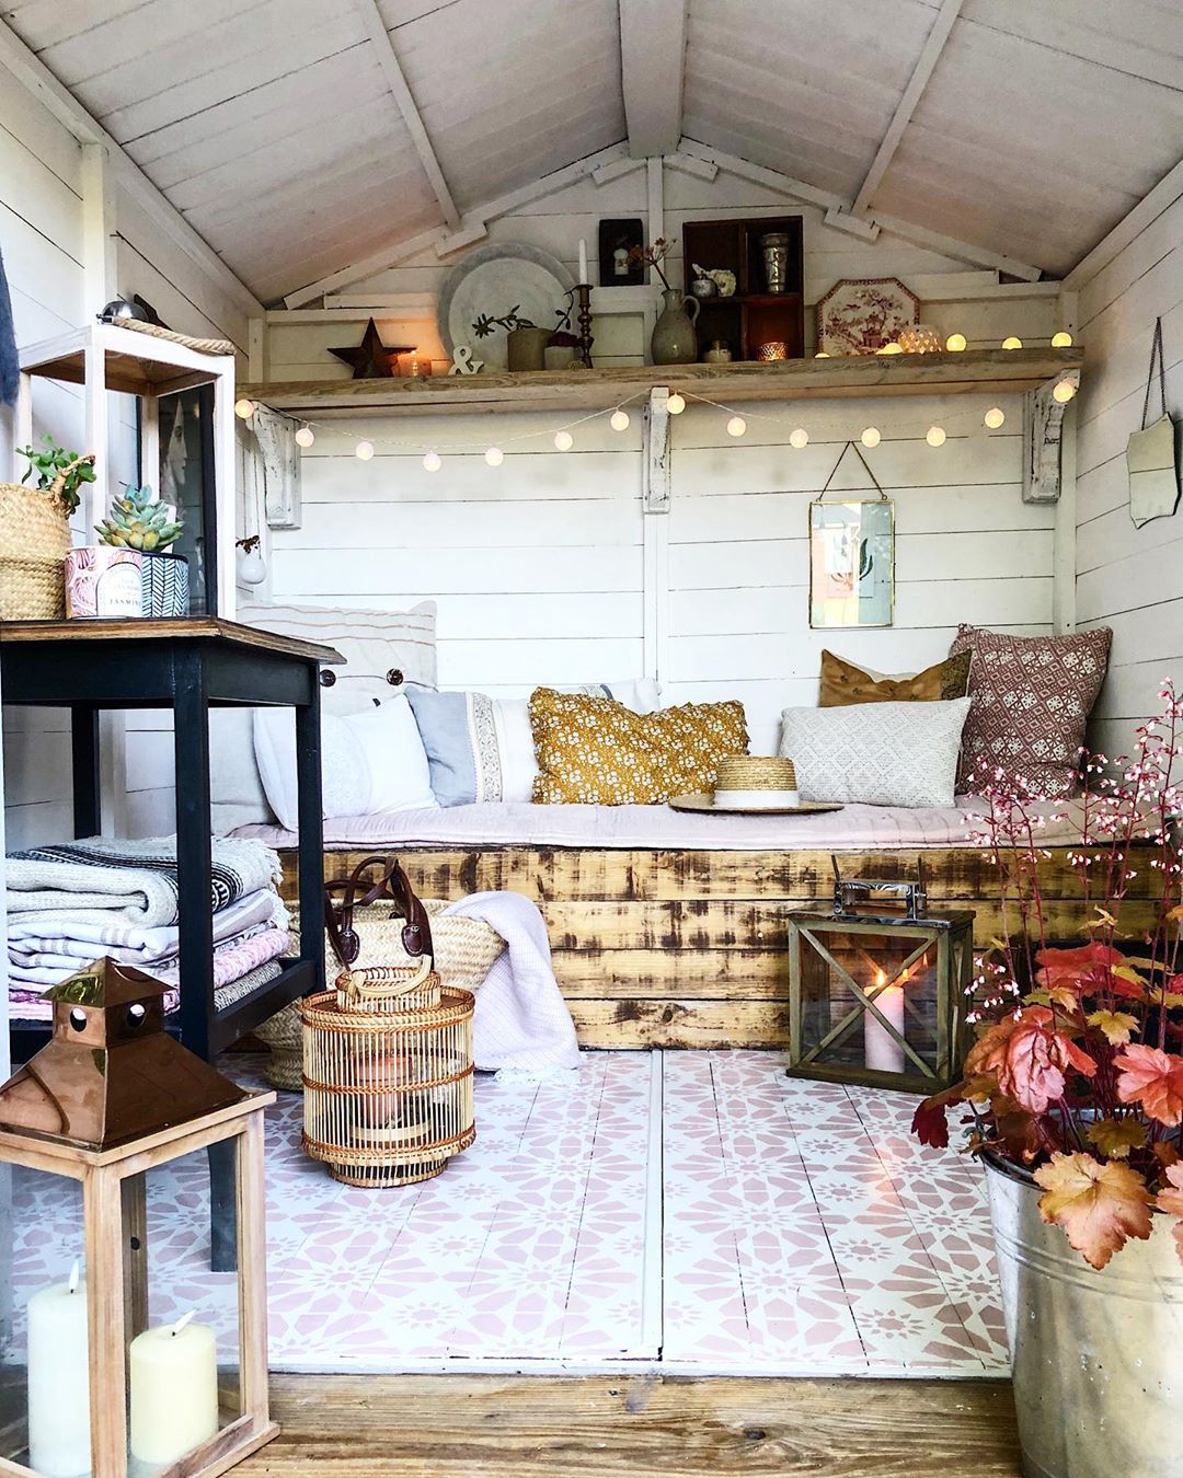
[[[216, 837], [210, 875], [213, 912], [247, 893], [279, 884], [279, 859], [259, 841]], [[4, 865], [9, 916], [52, 912], [55, 933], [67, 921], [123, 919], [142, 928], [177, 921], [176, 837], [142, 841], [90, 837], [59, 847], [13, 853]]]

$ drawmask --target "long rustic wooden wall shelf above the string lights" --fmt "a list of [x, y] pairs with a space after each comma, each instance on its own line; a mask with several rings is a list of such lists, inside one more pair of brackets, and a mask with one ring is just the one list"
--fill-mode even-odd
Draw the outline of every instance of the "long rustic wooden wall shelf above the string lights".
[[311, 415], [424, 411], [596, 409], [645, 396], [654, 386], [732, 401], [797, 401], [898, 395], [1017, 395], [1084, 364], [1084, 350], [974, 349], [936, 355], [784, 359], [776, 364], [636, 365], [433, 380], [299, 380], [241, 384], [238, 393]]

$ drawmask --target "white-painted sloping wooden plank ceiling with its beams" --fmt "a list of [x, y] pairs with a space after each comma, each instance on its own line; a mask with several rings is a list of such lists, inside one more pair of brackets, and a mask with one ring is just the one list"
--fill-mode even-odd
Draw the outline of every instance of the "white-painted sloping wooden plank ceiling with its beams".
[[[614, 143], [1071, 269], [1183, 160], [1180, 0], [0, 0], [263, 302]], [[679, 65], [680, 59], [680, 65]]]

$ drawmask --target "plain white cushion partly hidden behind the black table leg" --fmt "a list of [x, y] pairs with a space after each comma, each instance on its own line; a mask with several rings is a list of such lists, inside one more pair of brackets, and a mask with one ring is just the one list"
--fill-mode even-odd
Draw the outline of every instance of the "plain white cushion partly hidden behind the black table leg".
[[[296, 723], [290, 709], [254, 711], [254, 757], [271, 808], [296, 831]], [[407, 695], [359, 714], [321, 718], [325, 816], [371, 816], [436, 804], [427, 751]]]

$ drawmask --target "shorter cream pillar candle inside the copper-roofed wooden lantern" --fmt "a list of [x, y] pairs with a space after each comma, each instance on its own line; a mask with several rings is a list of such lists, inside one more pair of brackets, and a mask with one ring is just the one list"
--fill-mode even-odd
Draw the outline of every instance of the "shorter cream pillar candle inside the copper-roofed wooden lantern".
[[132, 1456], [140, 1462], [173, 1463], [217, 1435], [217, 1341], [191, 1320], [132, 1341]]

